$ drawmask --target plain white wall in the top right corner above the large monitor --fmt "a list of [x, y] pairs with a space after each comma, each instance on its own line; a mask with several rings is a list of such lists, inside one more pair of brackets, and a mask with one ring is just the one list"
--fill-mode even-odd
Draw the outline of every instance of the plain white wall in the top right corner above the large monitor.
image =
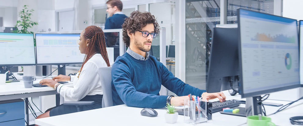
[[283, 17], [303, 20], [302, 0], [283, 0]]

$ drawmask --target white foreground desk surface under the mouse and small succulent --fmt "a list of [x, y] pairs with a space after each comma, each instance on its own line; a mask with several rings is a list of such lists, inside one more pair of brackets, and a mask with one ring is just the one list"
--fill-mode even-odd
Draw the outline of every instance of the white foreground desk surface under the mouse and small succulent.
[[[227, 94], [227, 92], [224, 92]], [[226, 95], [227, 100], [237, 99], [240, 100], [240, 95], [230, 96]], [[242, 99], [243, 100], [243, 99]], [[244, 99], [245, 100], [245, 99]], [[266, 102], [283, 103], [284, 105], [289, 103], [288, 101], [266, 100]], [[240, 107], [245, 107], [241, 104]], [[272, 122], [279, 126], [291, 125], [289, 117], [303, 115], [301, 108], [303, 107], [302, 100], [298, 103], [294, 103], [287, 110], [283, 110], [277, 114], [269, 115], [272, 118]], [[267, 114], [272, 114], [280, 107], [265, 106]], [[183, 116], [178, 116], [178, 121], [175, 124], [168, 124], [165, 122], [164, 109], [155, 109], [158, 112], [157, 117], [146, 117], [140, 114], [142, 108], [127, 107], [126, 105], [119, 105], [113, 107], [100, 108], [95, 110], [88, 110], [83, 112], [47, 117], [36, 119], [35, 124], [41, 126], [82, 126], [82, 125], [131, 125], [131, 126], [158, 126], [158, 125], [174, 125], [184, 126], [192, 125], [184, 123]], [[220, 114], [219, 112], [212, 114], [212, 120], [197, 125], [203, 126], [245, 126], [246, 117], [232, 116]]]

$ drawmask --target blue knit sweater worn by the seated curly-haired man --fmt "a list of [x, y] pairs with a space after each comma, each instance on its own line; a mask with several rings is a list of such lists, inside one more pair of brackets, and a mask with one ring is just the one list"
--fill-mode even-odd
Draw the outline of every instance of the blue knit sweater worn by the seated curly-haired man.
[[161, 84], [178, 96], [201, 96], [205, 90], [190, 86], [168, 71], [153, 56], [146, 61], [125, 53], [117, 57], [111, 71], [113, 104], [130, 107], [160, 108], [168, 96], [159, 95]]

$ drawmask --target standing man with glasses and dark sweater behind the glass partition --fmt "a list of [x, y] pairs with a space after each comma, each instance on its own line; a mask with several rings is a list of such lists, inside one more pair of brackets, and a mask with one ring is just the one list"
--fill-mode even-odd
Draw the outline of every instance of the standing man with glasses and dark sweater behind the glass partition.
[[[106, 12], [108, 12], [110, 17], [106, 19], [104, 29], [121, 29], [125, 18], [128, 18], [126, 15], [123, 14], [123, 12], [121, 12], [123, 7], [122, 2], [120, 0], [109, 0], [106, 2], [106, 4]], [[113, 40], [110, 40], [113, 36], [113, 33], [104, 33], [104, 35], [106, 38], [106, 47], [119, 46], [119, 40], [116, 39], [116, 43], [113, 43], [111, 42]], [[118, 36], [119, 35], [117, 35], [117, 37]]]

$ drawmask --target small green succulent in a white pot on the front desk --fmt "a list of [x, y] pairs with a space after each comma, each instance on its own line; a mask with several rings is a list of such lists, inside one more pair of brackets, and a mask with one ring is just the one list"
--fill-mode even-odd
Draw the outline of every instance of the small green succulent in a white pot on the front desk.
[[166, 123], [176, 123], [178, 119], [178, 113], [175, 106], [166, 103], [167, 113], [164, 114]]

